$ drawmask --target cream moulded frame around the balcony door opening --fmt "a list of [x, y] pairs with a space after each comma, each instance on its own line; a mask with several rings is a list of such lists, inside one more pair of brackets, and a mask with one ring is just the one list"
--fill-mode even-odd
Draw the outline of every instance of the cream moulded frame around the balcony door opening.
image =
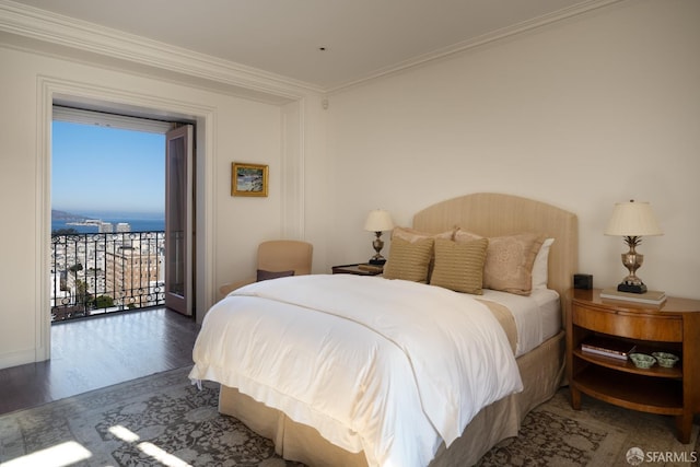
[[36, 304], [35, 304], [35, 361], [50, 358], [50, 313], [47, 312], [49, 297], [50, 271], [50, 235], [51, 235], [51, 121], [54, 104], [72, 104], [95, 110], [110, 110], [124, 115], [159, 116], [194, 120], [196, 122], [195, 141], [198, 149], [196, 157], [197, 182], [195, 183], [196, 220], [196, 250], [194, 268], [195, 278], [195, 310], [197, 320], [201, 322], [205, 312], [213, 304], [215, 297], [214, 277], [214, 194], [217, 191], [213, 152], [215, 109], [197, 103], [184, 103], [170, 98], [159, 98], [124, 90], [97, 87], [92, 84], [81, 84], [74, 81], [39, 77], [37, 98], [37, 151], [36, 151], [36, 255], [37, 268], [35, 273]]

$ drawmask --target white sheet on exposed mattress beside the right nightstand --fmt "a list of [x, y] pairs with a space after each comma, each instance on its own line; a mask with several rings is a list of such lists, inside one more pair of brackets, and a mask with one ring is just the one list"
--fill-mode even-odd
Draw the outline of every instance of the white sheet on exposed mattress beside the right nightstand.
[[555, 290], [537, 289], [526, 296], [485, 289], [481, 299], [499, 303], [513, 314], [517, 329], [515, 357], [529, 352], [562, 328], [559, 293]]

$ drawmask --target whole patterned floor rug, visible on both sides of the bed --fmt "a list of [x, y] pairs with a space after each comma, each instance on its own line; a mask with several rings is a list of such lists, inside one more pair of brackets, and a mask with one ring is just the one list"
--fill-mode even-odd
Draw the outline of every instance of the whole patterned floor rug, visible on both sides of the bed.
[[[301, 466], [277, 456], [269, 440], [236, 419], [219, 415], [218, 386], [206, 383], [199, 390], [189, 384], [188, 371], [2, 416], [0, 465]], [[493, 447], [479, 466], [697, 465], [697, 424], [692, 440], [678, 443], [667, 417], [588, 398], [583, 410], [574, 411], [562, 389], [527, 416], [517, 437]]]

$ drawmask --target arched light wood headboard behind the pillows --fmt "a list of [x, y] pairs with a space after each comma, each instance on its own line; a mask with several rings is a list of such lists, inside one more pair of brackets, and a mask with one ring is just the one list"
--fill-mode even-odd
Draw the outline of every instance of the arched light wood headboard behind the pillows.
[[439, 202], [413, 215], [413, 227], [439, 233], [459, 226], [482, 236], [541, 233], [549, 250], [550, 289], [562, 297], [579, 268], [579, 220], [563, 209], [512, 195], [479, 192]]

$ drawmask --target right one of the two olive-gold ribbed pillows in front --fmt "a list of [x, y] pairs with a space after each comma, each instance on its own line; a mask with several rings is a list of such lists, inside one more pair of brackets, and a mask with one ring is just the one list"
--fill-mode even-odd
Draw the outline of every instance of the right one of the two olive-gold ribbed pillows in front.
[[436, 238], [435, 266], [430, 284], [481, 295], [488, 245], [487, 238], [459, 243]]

